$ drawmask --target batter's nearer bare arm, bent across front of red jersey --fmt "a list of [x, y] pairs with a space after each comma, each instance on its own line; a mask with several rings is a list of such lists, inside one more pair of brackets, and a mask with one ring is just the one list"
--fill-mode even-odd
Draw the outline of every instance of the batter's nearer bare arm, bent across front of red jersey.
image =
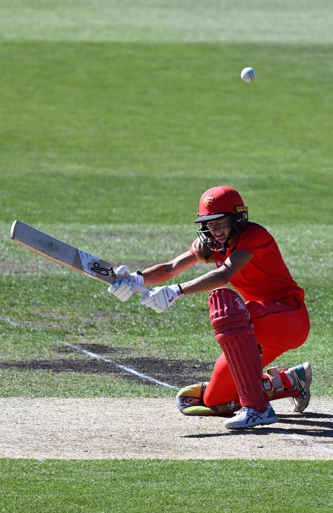
[[207, 272], [194, 280], [181, 283], [180, 286], [184, 295], [195, 294], [213, 290], [217, 287], [224, 287], [249, 261], [253, 258], [249, 251], [235, 251], [228, 257], [222, 267]]

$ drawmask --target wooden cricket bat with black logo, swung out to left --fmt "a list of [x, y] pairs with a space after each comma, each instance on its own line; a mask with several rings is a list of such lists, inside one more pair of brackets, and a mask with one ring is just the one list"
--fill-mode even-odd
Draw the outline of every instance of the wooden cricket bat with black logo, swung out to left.
[[[22, 221], [14, 221], [10, 230], [13, 241], [56, 264], [80, 272], [90, 278], [112, 285], [117, 277], [110, 262], [94, 257], [86, 251], [74, 248], [65, 242], [54, 239], [42, 231], [36, 230]], [[147, 294], [149, 288], [133, 282], [133, 287], [141, 294]]]

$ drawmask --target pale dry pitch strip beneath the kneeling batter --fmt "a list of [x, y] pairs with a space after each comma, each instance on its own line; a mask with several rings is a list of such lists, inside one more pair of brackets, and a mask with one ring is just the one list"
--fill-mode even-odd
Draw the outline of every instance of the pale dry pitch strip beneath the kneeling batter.
[[220, 417], [184, 417], [170, 399], [0, 398], [0, 457], [35, 459], [333, 459], [333, 401], [280, 422], [230, 431]]

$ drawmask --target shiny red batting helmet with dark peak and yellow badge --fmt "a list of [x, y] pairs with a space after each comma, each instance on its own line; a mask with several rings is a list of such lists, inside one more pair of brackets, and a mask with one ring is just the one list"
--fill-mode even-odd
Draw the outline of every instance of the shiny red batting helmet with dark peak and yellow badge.
[[247, 212], [239, 192], [232, 187], [218, 185], [206, 190], [199, 201], [199, 213], [195, 223], [205, 223], [224, 218], [225, 215]]

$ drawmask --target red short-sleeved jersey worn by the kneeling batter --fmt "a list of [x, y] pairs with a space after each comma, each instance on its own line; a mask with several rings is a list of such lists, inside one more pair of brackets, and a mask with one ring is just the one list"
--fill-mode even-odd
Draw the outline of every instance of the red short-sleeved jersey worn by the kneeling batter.
[[[227, 248], [225, 255], [214, 251], [216, 266], [223, 262], [235, 250], [253, 253], [253, 259], [246, 264], [234, 278], [231, 285], [240, 292], [245, 301], [281, 301], [289, 303], [295, 295], [304, 300], [304, 290], [293, 280], [285, 265], [273, 236], [256, 223], [248, 222], [238, 239]], [[194, 254], [193, 249], [190, 249]]]

